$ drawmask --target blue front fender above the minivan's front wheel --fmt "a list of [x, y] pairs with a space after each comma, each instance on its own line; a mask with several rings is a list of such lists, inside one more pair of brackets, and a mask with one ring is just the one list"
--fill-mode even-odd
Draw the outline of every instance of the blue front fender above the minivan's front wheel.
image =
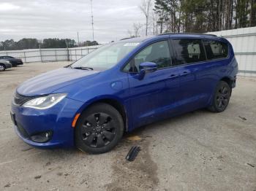
[[[83, 105], [78, 109], [77, 113], [83, 112], [88, 106], [99, 101], [116, 101], [123, 107], [127, 119], [132, 119], [129, 109], [130, 94], [127, 74], [122, 72], [105, 72], [97, 75], [97, 77], [88, 78], [77, 84], [63, 87], [54, 93], [68, 93], [68, 98], [82, 102]], [[127, 128], [129, 129], [130, 126], [132, 124], [128, 124]]]

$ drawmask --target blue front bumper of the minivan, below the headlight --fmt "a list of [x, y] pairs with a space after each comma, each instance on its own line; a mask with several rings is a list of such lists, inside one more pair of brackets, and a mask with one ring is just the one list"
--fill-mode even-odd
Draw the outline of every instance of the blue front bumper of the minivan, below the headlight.
[[[39, 148], [72, 147], [74, 145], [74, 129], [72, 120], [80, 107], [80, 101], [64, 98], [50, 109], [32, 109], [12, 104], [11, 115], [17, 135], [26, 144]], [[50, 131], [49, 141], [35, 142], [31, 136]]]

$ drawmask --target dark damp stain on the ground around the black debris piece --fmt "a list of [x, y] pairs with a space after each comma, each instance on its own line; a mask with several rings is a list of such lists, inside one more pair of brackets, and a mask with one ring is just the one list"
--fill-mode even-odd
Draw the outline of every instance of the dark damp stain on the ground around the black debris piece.
[[[142, 136], [140, 141], [129, 141], [124, 137], [117, 148], [113, 150], [116, 156], [113, 158], [112, 182], [105, 187], [109, 191], [118, 190], [155, 190], [159, 179], [157, 177], [157, 164], [149, 155], [150, 141]], [[134, 161], [125, 159], [129, 149], [140, 146], [141, 151]]]

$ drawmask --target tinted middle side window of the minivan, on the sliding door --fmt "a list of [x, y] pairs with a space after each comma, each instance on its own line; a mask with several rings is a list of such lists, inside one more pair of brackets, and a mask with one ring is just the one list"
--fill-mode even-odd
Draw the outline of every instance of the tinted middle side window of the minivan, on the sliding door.
[[176, 52], [175, 65], [206, 61], [200, 39], [173, 39], [173, 49]]

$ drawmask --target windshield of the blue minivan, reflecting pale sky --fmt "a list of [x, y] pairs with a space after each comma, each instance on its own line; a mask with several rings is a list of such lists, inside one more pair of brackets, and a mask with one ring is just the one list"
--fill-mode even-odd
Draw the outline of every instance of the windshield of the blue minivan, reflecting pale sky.
[[115, 66], [125, 55], [137, 47], [139, 42], [110, 43], [90, 52], [72, 63], [71, 68], [106, 70]]

